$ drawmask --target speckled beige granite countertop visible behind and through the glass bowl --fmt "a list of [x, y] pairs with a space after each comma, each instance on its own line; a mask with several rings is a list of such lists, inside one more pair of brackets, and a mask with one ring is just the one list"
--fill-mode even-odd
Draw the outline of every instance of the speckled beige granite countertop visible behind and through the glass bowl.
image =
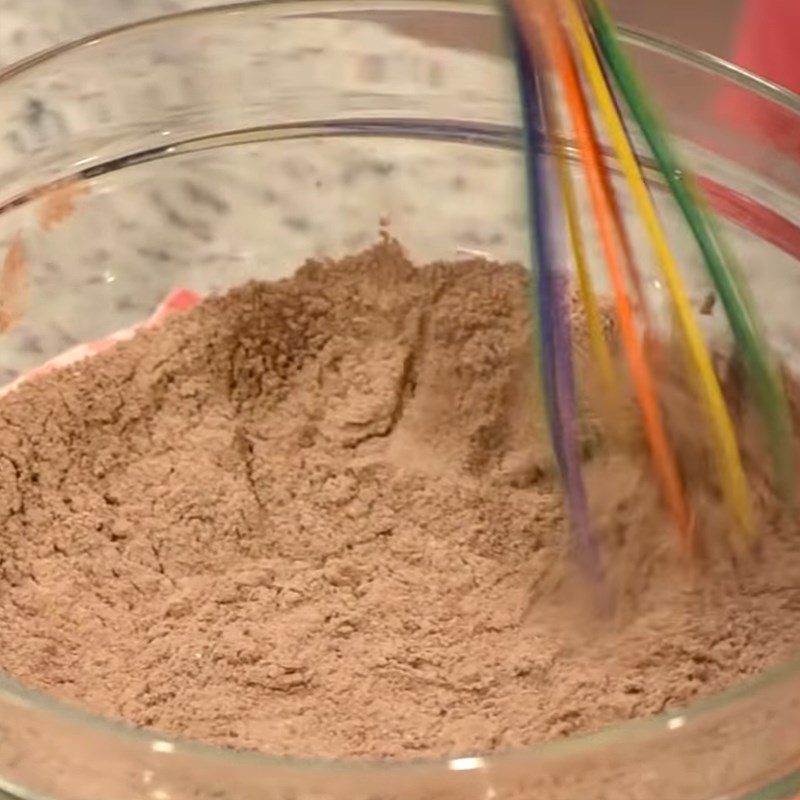
[[[98, 29], [205, 5], [202, 0], [0, 0], [0, 65]], [[465, 109], [483, 119], [502, 118], [503, 108], [513, 112], [510, 70], [490, 53], [458, 51], [352, 20], [315, 20], [294, 26], [289, 35], [266, 28], [256, 32], [262, 34], [250, 70], [254, 80], [269, 75], [258, 70], [267, 70], [267, 59], [280, 52], [303, 75], [320, 75], [323, 89], [329, 81], [350, 92], [351, 114], [359, 103], [371, 102], [377, 82], [396, 85], [395, 102], [421, 116], [432, 102], [438, 114], [452, 119], [463, 118]], [[226, 87], [210, 88], [181, 74], [181, 59], [202, 52], [202, 39], [166, 40], [152, 63], [131, 60], [130, 79], [142, 86], [143, 118], [174, 90], [175, 75], [183, 99], [219, 97], [220, 108], [230, 102]], [[232, 46], [230, 59], [240, 57]], [[52, 148], [113, 116], [118, 98], [102, 77], [76, 70], [23, 83], [4, 96], [0, 196], [15, 180], [25, 184], [26, 159], [41, 156], [42, 142]], [[411, 87], [405, 93], [404, 81]], [[420, 87], [430, 87], [435, 100]], [[291, 101], [290, 90], [283, 102]], [[337, 110], [329, 93], [320, 92], [318, 117]], [[254, 122], [264, 116], [256, 112]], [[212, 127], [225, 130], [224, 122]], [[164, 127], [163, 132], [157, 125], [147, 128], [145, 145], [161, 133], [170, 142], [180, 140], [174, 125]], [[113, 142], [108, 147], [112, 152]], [[69, 156], [75, 163], [98, 157], [91, 148]], [[23, 323], [0, 341], [0, 383], [77, 342], [137, 322], [173, 288], [207, 292], [248, 278], [280, 277], [307, 256], [341, 255], [367, 245], [384, 218], [419, 259], [474, 251], [524, 259], [521, 163], [510, 151], [465, 145], [298, 139], [199, 152], [108, 174], [93, 182], [68, 224], [46, 235], [32, 210], [12, 211], [0, 217], [0, 247], [22, 233], [31, 296]], [[764, 196], [765, 189], [758, 192]], [[646, 253], [637, 241], [639, 252]], [[681, 260], [696, 267], [685, 238], [676, 235], [675, 241]], [[800, 286], [792, 260], [741, 233], [734, 232], [732, 241], [756, 295], [770, 307], [770, 324], [784, 346], [796, 346]], [[660, 293], [655, 284], [652, 291]], [[695, 291], [703, 291], [702, 282]]]

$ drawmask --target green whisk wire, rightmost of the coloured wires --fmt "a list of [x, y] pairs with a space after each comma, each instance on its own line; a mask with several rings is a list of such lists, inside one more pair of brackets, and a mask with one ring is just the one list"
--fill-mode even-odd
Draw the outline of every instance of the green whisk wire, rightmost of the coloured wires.
[[725, 309], [741, 357], [753, 384], [768, 431], [778, 485], [789, 498], [793, 487], [791, 421], [781, 378], [770, 357], [757, 314], [739, 279], [712, 215], [681, 166], [672, 145], [622, 51], [616, 27], [601, 0], [585, 0], [588, 18], [609, 72], [636, 121], [703, 256]]

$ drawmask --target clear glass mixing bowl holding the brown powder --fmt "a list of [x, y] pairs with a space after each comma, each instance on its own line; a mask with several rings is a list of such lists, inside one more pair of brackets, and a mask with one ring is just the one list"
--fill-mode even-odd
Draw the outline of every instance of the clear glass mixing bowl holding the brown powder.
[[[800, 101], [701, 53], [633, 31], [625, 40], [657, 78], [656, 99], [726, 220], [769, 334], [792, 358], [800, 167], [728, 123], [715, 98], [736, 86], [797, 130]], [[0, 130], [0, 252], [19, 237], [29, 271], [24, 317], [0, 339], [0, 383], [140, 321], [171, 289], [284, 276], [308, 256], [371, 243], [382, 224], [417, 259], [526, 253], [513, 72], [488, 4], [245, 3], [120, 28], [0, 75]], [[0, 308], [9, 302], [0, 296]], [[778, 800], [800, 792], [800, 665], [597, 735], [407, 764], [174, 741], [0, 676], [2, 792]]]

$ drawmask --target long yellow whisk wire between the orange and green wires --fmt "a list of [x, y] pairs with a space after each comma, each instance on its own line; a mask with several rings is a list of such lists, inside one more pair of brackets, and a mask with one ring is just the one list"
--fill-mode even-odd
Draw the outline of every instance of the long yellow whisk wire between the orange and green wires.
[[667, 242], [666, 233], [642, 176], [639, 162], [619, 118], [583, 16], [575, 0], [561, 0], [561, 2], [565, 8], [568, 24], [573, 32], [589, 83], [596, 95], [598, 110], [611, 138], [622, 171], [630, 185], [639, 213], [644, 220], [647, 236], [672, 299], [687, 354], [697, 371], [699, 389], [711, 423], [714, 451], [726, 504], [737, 523], [740, 535], [746, 541], [752, 541], [756, 532], [752, 520], [747, 479], [742, 468], [733, 422], [714, 372], [711, 356], [694, 318], [679, 267]]

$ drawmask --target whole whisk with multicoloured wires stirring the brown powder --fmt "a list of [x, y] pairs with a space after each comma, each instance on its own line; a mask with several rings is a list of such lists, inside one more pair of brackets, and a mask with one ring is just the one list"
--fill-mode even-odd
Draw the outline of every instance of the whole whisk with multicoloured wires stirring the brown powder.
[[[735, 357], [745, 367], [767, 432], [777, 484], [788, 496], [793, 482], [791, 423], [782, 381], [769, 352], [756, 309], [697, 184], [676, 155], [657, 113], [626, 59], [614, 23], [601, 0], [503, 0], [519, 80], [526, 144], [531, 224], [533, 317], [547, 426], [561, 475], [575, 548], [583, 568], [602, 577], [598, 535], [588, 507], [582, 472], [579, 412], [571, 338], [570, 300], [583, 308], [589, 346], [603, 391], [620, 381], [604, 332], [601, 300], [593, 285], [586, 222], [577, 201], [564, 142], [572, 140], [588, 190], [591, 221], [602, 262], [628, 379], [650, 453], [653, 474], [682, 547], [695, 550], [694, 514], [665, 422], [653, 366], [657, 334], [629, 230], [630, 218], [611, 180], [601, 134], [610, 142], [637, 220], [669, 297], [671, 320], [704, 409], [709, 444], [722, 496], [730, 514], [732, 543], [747, 549], [757, 540], [751, 491], [731, 412], [710, 348], [689, 299], [686, 281], [662, 225], [628, 128], [646, 143], [673, 202], [693, 237], [733, 335]], [[559, 264], [564, 232], [574, 272]], [[573, 284], [577, 284], [574, 286]]]

